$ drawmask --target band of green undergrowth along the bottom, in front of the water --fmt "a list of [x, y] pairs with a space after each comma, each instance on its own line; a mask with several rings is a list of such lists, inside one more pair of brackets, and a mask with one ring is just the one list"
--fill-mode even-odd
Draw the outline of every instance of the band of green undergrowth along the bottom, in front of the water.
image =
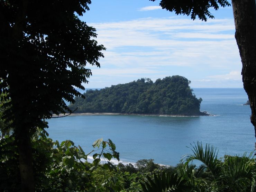
[[[119, 160], [116, 146], [109, 139], [98, 139], [85, 154], [70, 140], [59, 143], [38, 130], [31, 139], [36, 191], [254, 191], [255, 159], [251, 155], [218, 159], [216, 149], [201, 143], [191, 145], [176, 167], [160, 166], [153, 159], [135, 165], [113, 165]], [[6, 135], [0, 140], [0, 191], [20, 191], [17, 142]], [[85, 160], [92, 155], [94, 161]], [[103, 159], [103, 161], [100, 161]], [[199, 160], [200, 166], [192, 162]]]

